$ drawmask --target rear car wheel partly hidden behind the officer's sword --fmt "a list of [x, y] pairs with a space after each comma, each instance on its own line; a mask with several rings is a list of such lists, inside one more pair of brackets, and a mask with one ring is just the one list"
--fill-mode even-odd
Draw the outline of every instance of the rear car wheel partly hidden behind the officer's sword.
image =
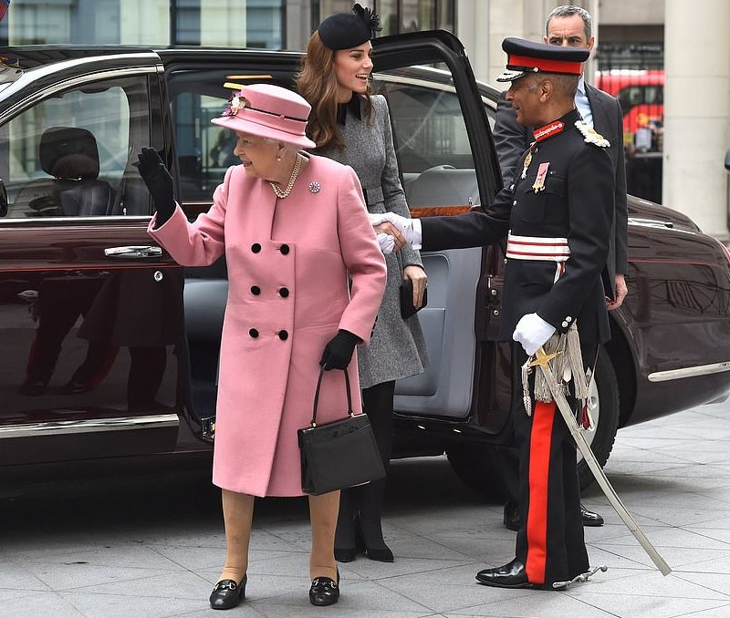
[[[609, 460], [616, 432], [619, 429], [619, 381], [610, 362], [608, 352], [600, 347], [596, 363], [596, 379], [590, 389], [588, 400], [590, 415], [595, 430], [583, 435], [602, 468]], [[593, 482], [593, 474], [583, 456], [578, 453], [578, 476], [580, 489], [586, 489]]]

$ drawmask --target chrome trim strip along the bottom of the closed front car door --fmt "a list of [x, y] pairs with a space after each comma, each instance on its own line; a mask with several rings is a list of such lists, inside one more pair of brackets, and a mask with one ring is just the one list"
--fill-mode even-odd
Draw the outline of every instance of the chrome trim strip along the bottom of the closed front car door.
[[130, 429], [161, 429], [177, 427], [177, 414], [152, 414], [142, 417], [90, 418], [87, 420], [54, 420], [44, 423], [22, 423], [0, 427], [0, 439], [63, 436]]

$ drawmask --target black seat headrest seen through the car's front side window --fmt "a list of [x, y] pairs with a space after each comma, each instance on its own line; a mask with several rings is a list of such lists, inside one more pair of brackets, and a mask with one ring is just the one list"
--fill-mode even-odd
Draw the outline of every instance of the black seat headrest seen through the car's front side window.
[[99, 176], [99, 147], [87, 129], [51, 127], [38, 145], [41, 168], [54, 178], [89, 180]]

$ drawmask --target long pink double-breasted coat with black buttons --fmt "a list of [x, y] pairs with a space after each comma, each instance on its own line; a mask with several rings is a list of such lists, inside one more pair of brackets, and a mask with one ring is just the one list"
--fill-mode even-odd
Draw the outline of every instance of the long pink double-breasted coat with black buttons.
[[[152, 238], [184, 266], [225, 252], [214, 484], [255, 496], [302, 495], [297, 429], [311, 418], [322, 350], [339, 328], [367, 343], [385, 287], [355, 172], [310, 155], [294, 190], [277, 200], [266, 181], [235, 166], [194, 223], [180, 207], [158, 230], [154, 222]], [[349, 380], [360, 411], [357, 355]], [[346, 410], [342, 372], [329, 371], [318, 421]]]

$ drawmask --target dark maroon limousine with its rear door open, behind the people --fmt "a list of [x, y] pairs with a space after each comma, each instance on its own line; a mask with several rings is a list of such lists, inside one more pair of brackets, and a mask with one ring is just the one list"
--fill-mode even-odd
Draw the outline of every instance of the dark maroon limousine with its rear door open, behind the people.
[[[210, 119], [235, 84], [291, 87], [300, 54], [29, 46], [0, 56], [0, 466], [209, 450], [225, 263], [183, 269], [151, 241], [133, 162], [142, 146], [160, 150], [183, 209], [206, 211], [236, 162], [232, 136]], [[382, 37], [375, 66], [413, 215], [488, 204], [501, 186], [497, 92], [476, 84], [458, 40]], [[730, 389], [730, 256], [678, 212], [631, 199], [630, 218], [630, 293], [611, 314], [589, 402], [602, 462], [617, 427]], [[497, 487], [495, 447], [510, 439], [509, 348], [495, 341], [503, 261], [498, 246], [424, 253], [431, 365], [396, 397], [399, 456], [445, 451], [485, 492]]]

